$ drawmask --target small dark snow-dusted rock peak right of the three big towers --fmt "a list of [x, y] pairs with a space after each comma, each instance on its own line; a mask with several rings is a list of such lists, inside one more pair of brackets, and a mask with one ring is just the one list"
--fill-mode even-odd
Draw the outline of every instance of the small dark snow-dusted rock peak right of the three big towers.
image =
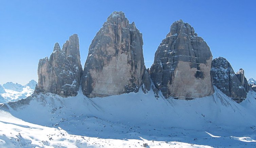
[[242, 69], [235, 73], [231, 64], [225, 58], [218, 57], [212, 62], [211, 74], [213, 84], [224, 94], [238, 100], [238, 102], [241, 100], [239, 98], [246, 98], [249, 88]]

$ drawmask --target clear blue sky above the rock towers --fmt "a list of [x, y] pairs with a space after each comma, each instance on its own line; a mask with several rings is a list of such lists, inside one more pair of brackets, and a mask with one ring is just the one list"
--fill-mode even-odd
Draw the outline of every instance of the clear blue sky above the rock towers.
[[84, 67], [92, 39], [113, 11], [123, 11], [143, 34], [147, 68], [170, 25], [182, 19], [214, 58], [225, 57], [235, 72], [243, 68], [248, 79], [256, 79], [255, 7], [255, 0], [1, 0], [0, 84], [38, 81], [39, 59], [72, 34], [78, 34]]

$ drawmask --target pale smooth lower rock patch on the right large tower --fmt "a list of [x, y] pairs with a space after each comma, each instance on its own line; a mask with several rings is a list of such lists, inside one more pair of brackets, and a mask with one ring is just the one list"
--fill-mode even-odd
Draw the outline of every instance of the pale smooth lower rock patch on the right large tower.
[[[171, 96], [177, 96], [180, 99], [204, 97], [213, 93], [212, 86], [209, 86], [211, 79], [211, 59], [206, 64], [200, 63], [200, 69], [204, 72], [204, 78], [195, 78], [197, 68], [190, 68], [189, 62], [179, 61], [176, 70], [173, 73], [173, 81], [168, 84]], [[211, 84], [211, 83], [210, 83]]]

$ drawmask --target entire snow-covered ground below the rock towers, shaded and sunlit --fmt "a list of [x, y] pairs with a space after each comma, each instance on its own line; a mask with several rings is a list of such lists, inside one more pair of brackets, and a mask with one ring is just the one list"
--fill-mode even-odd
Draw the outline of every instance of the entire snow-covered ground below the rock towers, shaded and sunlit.
[[0, 105], [0, 147], [255, 147], [255, 98], [39, 94]]

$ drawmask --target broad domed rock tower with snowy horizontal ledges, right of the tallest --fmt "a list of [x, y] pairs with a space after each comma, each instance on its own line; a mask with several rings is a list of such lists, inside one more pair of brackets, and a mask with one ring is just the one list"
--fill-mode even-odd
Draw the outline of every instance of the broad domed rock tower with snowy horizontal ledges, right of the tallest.
[[[189, 99], [214, 93], [211, 79], [212, 53], [188, 23], [174, 22], [159, 45], [150, 76], [164, 97]], [[156, 89], [155, 89], [156, 90]]]

